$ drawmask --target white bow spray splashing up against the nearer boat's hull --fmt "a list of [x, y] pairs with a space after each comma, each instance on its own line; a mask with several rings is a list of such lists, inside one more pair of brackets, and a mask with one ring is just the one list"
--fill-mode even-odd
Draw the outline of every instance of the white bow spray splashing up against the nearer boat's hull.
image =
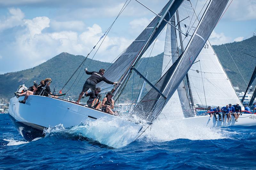
[[72, 139], [89, 139], [113, 148], [124, 147], [138, 137], [138, 129], [116, 119], [82, 122], [71, 128], [62, 124], [44, 130], [45, 137], [60, 135]]

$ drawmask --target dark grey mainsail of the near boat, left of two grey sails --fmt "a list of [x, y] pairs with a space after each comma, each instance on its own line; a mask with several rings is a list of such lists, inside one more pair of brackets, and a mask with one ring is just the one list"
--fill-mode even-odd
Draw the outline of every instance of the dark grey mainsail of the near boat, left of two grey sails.
[[[173, 16], [183, 0], [170, 0], [164, 8], [159, 12], [159, 16], [156, 16], [153, 21], [140, 33], [140, 35], [132, 42], [132, 44], [124, 51], [122, 55], [113, 63], [110, 68], [105, 72], [104, 76], [111, 81], [123, 82], [125, 75], [130, 71], [130, 68], [136, 61], [138, 61], [145, 50], [154, 41], [157, 35], [163, 30], [167, 24], [163, 19], [167, 21]], [[120, 84], [119, 84], [120, 85]], [[119, 86], [118, 85], [118, 86]], [[104, 82], [98, 84], [101, 89], [111, 87]], [[118, 89], [116, 86], [114, 90]], [[108, 89], [111, 90], [111, 89]]]

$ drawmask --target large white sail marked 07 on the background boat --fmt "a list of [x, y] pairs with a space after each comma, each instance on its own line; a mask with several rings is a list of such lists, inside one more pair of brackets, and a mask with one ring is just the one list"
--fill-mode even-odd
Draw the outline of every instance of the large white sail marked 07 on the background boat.
[[[187, 5], [187, 9], [193, 11], [196, 16], [192, 5]], [[183, 18], [187, 16], [186, 13], [179, 12], [179, 14]], [[197, 18], [193, 19], [198, 22]], [[185, 23], [182, 24], [185, 27]], [[195, 105], [199, 107], [224, 106], [228, 101], [232, 104], [240, 103], [242, 106], [209, 41], [205, 43], [197, 56], [195, 64], [188, 71], [188, 76]]]

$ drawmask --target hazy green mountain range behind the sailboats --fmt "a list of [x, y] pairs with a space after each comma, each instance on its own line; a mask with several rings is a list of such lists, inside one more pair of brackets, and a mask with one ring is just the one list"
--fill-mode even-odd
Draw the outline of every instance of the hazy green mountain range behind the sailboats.
[[[256, 37], [254, 36], [241, 42], [232, 42], [225, 45], [228, 48], [231, 56], [233, 57], [247, 84], [256, 65], [256, 58], [245, 55], [244, 53], [256, 56]], [[213, 48], [217, 53], [225, 71], [227, 72], [228, 77], [231, 79], [233, 86], [238, 86], [241, 91], [244, 91], [246, 88], [246, 84], [244, 83], [243, 78], [237, 70], [236, 65], [232, 61], [232, 58], [228, 54], [225, 46], [219, 45], [213, 46]], [[10, 99], [14, 96], [14, 92], [17, 90], [19, 85], [25, 84], [27, 87], [29, 87], [33, 84], [34, 80], [39, 83], [40, 80], [47, 77], [52, 78], [51, 89], [53, 89], [53, 86], [55, 86], [56, 91], [58, 92], [61, 87], [67, 82], [68, 78], [73, 74], [79, 64], [83, 61], [83, 59], [84, 56], [82, 55], [61, 53], [46, 61], [45, 63], [42, 63], [31, 69], [1, 74], [0, 98]], [[148, 72], [148, 79], [154, 84], [161, 75], [163, 53], [154, 57], [143, 58], [140, 62], [138, 70], [141, 73], [144, 71], [144, 75], [146, 75], [146, 72]], [[89, 63], [90, 66], [88, 66]], [[68, 92], [68, 95], [71, 95], [72, 97], [77, 96], [77, 94], [81, 92], [85, 80], [89, 77], [88, 75], [83, 74], [85, 67], [88, 67], [89, 71], [98, 71], [100, 70], [100, 68], [104, 68], [106, 70], [110, 65], [111, 63], [87, 59], [82, 69], [79, 69], [77, 71], [77, 73], [69, 81], [69, 83], [62, 92], [67, 92], [77, 78], [74, 85]], [[144, 70], [146, 65], [147, 67]], [[80, 74], [78, 75], [79, 72]], [[142, 85], [142, 82], [143, 80], [140, 79], [137, 74], [134, 75], [134, 80], [132, 76], [130, 81], [126, 85], [124, 92], [120, 96], [119, 102], [124, 102], [132, 99], [134, 101], [140, 91], [140, 86]], [[146, 93], [150, 89], [149, 85], [146, 85], [146, 89], [147, 90], [144, 93]]]

